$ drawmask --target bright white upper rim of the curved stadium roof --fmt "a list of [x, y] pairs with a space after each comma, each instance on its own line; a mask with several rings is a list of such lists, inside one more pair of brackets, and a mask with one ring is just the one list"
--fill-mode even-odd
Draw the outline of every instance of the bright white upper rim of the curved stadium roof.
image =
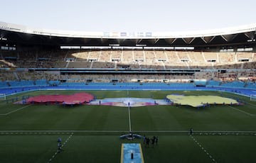
[[195, 30], [187, 32], [151, 33], [151, 32], [78, 32], [71, 30], [36, 29], [14, 23], [0, 21], [0, 28], [21, 33], [36, 35], [51, 35], [69, 38], [198, 38], [216, 35], [232, 35], [236, 33], [248, 33], [256, 31], [256, 23], [232, 28], [220, 28], [213, 30]]

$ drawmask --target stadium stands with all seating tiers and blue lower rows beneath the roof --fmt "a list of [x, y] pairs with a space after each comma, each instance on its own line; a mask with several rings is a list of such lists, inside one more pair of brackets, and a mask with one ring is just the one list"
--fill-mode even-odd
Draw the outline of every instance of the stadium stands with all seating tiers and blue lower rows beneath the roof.
[[[22, 91], [53, 86], [256, 89], [253, 29], [232, 30], [233, 40], [225, 40], [221, 31], [210, 33], [213, 36], [209, 38], [203, 34], [191, 38], [172, 38], [174, 35], [73, 38], [62, 33], [29, 33], [30, 30], [17, 33], [8, 27], [0, 29], [6, 37], [0, 40], [0, 89]], [[33, 39], [29, 40], [31, 35]]]

